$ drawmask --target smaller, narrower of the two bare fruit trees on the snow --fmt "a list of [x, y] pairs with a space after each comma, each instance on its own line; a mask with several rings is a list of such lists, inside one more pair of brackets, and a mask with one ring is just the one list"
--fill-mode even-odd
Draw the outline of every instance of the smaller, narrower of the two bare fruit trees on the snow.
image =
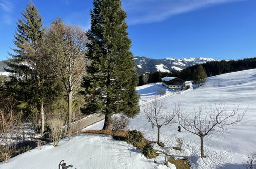
[[152, 126], [157, 127], [157, 144], [160, 145], [160, 128], [174, 123], [175, 111], [169, 111], [165, 107], [163, 100], [157, 101], [155, 98], [153, 103], [144, 107], [143, 112]]

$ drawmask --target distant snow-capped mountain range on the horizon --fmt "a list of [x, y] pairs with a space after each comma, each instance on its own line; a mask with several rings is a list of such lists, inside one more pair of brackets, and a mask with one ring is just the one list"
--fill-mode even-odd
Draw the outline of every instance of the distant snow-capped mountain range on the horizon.
[[135, 57], [135, 65], [137, 72], [139, 74], [145, 72], [170, 72], [172, 70], [182, 70], [184, 68], [196, 65], [203, 64], [210, 61], [216, 61], [212, 58], [184, 58], [184, 59], [175, 59], [167, 57], [165, 59], [150, 59], [147, 57]]

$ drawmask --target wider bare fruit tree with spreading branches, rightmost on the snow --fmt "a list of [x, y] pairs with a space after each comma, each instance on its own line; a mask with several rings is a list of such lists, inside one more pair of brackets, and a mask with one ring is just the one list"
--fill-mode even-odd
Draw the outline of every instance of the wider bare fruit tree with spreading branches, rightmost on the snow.
[[194, 110], [192, 115], [185, 114], [180, 105], [175, 106], [175, 112], [178, 114], [179, 124], [186, 131], [200, 137], [201, 158], [206, 158], [204, 155], [204, 137], [214, 132], [224, 134], [228, 126], [240, 122], [246, 111], [240, 114], [238, 108], [237, 105], [228, 111], [226, 103], [215, 102], [214, 107], [199, 107]]

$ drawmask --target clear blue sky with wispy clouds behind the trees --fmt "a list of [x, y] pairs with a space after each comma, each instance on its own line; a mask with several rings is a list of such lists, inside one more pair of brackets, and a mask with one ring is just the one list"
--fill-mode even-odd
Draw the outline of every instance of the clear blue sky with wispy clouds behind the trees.
[[[0, 0], [0, 60], [6, 59], [17, 19], [29, 0]], [[61, 17], [90, 28], [92, 0], [34, 0], [44, 26]], [[124, 0], [134, 56], [256, 57], [255, 0]]]

